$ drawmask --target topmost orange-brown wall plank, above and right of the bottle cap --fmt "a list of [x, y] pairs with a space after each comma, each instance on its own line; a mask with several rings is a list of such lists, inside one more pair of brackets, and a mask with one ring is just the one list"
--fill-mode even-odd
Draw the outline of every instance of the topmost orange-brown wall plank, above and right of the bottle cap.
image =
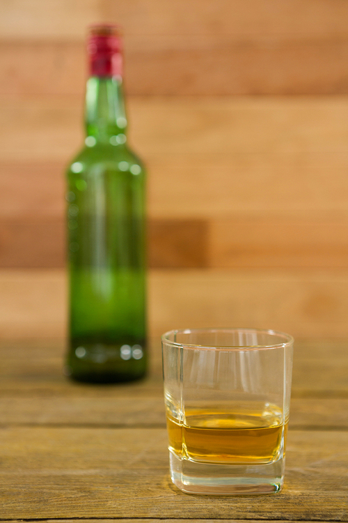
[[103, 0], [102, 13], [130, 34], [148, 35], [291, 35], [347, 34], [345, 0]]

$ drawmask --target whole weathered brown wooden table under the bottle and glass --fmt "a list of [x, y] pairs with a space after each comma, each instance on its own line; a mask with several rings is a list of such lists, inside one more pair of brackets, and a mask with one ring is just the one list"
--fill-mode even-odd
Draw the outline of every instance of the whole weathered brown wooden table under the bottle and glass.
[[348, 342], [296, 342], [285, 487], [244, 497], [171, 484], [158, 341], [118, 386], [68, 381], [63, 345], [1, 342], [0, 520], [348, 521]]

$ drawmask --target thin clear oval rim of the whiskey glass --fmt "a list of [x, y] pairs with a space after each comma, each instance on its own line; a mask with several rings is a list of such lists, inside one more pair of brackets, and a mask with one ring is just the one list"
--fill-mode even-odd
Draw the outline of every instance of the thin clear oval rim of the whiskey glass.
[[[193, 333], [257, 333], [257, 334], [268, 334], [284, 338], [284, 342], [274, 343], [274, 344], [260, 344], [260, 345], [217, 345], [217, 344], [193, 344], [193, 343], [179, 343], [173, 342], [168, 339], [171, 334], [193, 334]], [[187, 349], [204, 349], [204, 350], [214, 350], [219, 349], [223, 350], [235, 350], [235, 351], [245, 351], [245, 350], [265, 350], [265, 349], [280, 349], [285, 347], [290, 347], [294, 343], [294, 338], [292, 335], [284, 333], [282, 331], [274, 331], [268, 328], [243, 328], [243, 327], [216, 327], [216, 328], [179, 328], [172, 329], [161, 335], [161, 342], [164, 344], [172, 345], [174, 347], [184, 347]]]

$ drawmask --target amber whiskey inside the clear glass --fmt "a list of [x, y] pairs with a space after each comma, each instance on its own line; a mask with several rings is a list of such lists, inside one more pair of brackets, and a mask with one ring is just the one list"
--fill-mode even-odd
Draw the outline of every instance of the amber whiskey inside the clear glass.
[[184, 423], [167, 412], [169, 450], [205, 463], [269, 463], [278, 458], [287, 432], [280, 409], [185, 411]]

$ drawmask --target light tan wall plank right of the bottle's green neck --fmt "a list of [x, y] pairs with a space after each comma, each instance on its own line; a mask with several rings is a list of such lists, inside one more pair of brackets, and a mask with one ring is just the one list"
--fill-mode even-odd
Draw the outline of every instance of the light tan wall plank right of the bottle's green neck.
[[132, 142], [144, 151], [144, 158], [145, 151], [173, 156], [348, 151], [345, 96], [130, 101]]

